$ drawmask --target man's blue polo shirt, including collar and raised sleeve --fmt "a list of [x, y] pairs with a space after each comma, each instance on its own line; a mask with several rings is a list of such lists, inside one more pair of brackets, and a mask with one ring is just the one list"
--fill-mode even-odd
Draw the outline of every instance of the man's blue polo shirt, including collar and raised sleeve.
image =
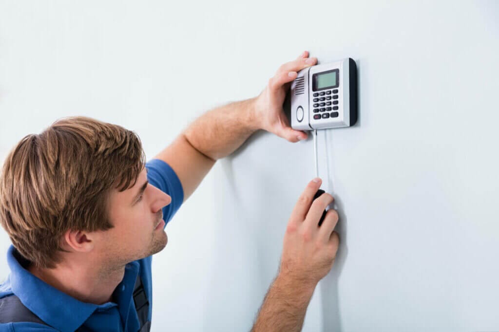
[[[163, 219], [168, 223], [184, 200], [182, 184], [174, 170], [161, 160], [146, 164], [149, 183], [172, 197], [163, 208]], [[10, 274], [0, 284], [0, 299], [15, 294], [21, 303], [48, 326], [37, 323], [4, 323], [0, 332], [14, 331], [133, 331], [140, 328], [133, 301], [133, 289], [140, 274], [149, 300], [149, 318], [152, 313], [152, 257], [130, 262], [125, 275], [113, 293], [113, 301], [103, 305], [84, 303], [44, 283], [23, 267], [23, 259], [13, 246], [7, 252]]]

